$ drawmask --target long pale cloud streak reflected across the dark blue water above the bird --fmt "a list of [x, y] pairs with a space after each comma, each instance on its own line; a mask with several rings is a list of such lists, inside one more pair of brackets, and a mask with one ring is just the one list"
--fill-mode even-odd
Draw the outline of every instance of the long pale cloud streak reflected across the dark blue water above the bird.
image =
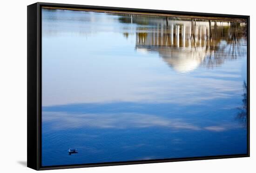
[[232, 128], [231, 124], [222, 126], [200, 127], [184, 122], [182, 118], [167, 118], [159, 115], [139, 113], [112, 113], [112, 114], [71, 114], [65, 112], [43, 112], [44, 123], [52, 123], [52, 130], [67, 130], [67, 128], [172, 128], [175, 130], [209, 130], [222, 132]]

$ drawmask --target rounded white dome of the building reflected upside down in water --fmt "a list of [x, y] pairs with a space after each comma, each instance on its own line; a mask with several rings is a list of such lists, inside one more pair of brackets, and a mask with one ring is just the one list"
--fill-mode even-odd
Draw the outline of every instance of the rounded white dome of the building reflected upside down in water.
[[186, 73], [195, 70], [208, 51], [203, 48], [185, 48], [185, 49], [160, 49], [159, 53], [163, 60], [168, 63], [175, 71]]

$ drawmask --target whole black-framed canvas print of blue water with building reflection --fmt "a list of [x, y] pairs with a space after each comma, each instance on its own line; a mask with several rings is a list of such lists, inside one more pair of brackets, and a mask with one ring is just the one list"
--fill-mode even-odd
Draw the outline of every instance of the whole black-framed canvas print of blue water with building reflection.
[[27, 6], [27, 166], [249, 156], [249, 16]]

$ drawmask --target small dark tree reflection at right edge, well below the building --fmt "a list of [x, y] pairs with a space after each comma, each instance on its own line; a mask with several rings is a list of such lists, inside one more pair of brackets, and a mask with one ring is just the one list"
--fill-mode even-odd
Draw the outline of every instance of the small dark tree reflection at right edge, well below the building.
[[237, 113], [236, 117], [239, 119], [245, 126], [247, 124], [247, 84], [243, 82], [243, 105], [242, 107], [238, 108], [239, 112]]

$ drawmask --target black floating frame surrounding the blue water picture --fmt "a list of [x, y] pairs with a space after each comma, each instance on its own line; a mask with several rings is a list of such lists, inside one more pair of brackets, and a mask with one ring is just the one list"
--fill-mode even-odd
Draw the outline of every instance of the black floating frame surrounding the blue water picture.
[[[207, 156], [207, 157], [189, 157], [177, 159], [159, 159], [159, 160], [143, 160], [143, 161], [120, 161], [97, 164], [79, 164], [79, 165], [62, 165], [62, 166], [41, 166], [41, 7], [50, 6], [57, 8], [80, 8], [91, 10], [119, 11], [119, 12], [140, 12], [140, 13], [161, 13], [172, 15], [189, 15], [199, 17], [221, 17], [221, 18], [239, 18], [247, 21], [247, 154], [239, 155], [222, 155], [222, 156]], [[249, 29], [250, 17], [245, 15], [230, 15], [230, 14], [214, 14], [214, 13], [194, 13], [194, 12], [177, 12], [165, 10], [149, 10], [136, 8], [120, 8], [107, 6], [85, 6], [71, 4], [56, 4], [37, 2], [27, 6], [27, 167], [35, 170], [48, 169], [63, 169], [63, 168], [79, 168], [79, 167], [101, 167], [115, 165], [131, 165], [144, 163], [159, 163], [172, 161], [187, 161], [187, 160], [209, 160], [209, 159], [224, 159], [249, 157], [250, 143], [250, 118], [249, 118], [249, 100], [250, 100], [250, 80], [249, 80]]]

